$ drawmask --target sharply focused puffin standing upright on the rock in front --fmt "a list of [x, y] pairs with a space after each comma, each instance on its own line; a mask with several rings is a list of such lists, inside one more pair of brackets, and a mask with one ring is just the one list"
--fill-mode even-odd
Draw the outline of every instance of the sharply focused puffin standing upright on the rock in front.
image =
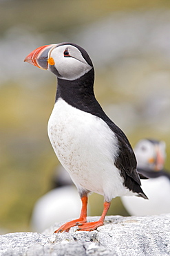
[[[55, 233], [68, 232], [73, 226], [82, 231], [103, 226], [116, 196], [147, 199], [127, 136], [95, 98], [94, 66], [87, 51], [74, 43], [50, 44], [36, 48], [24, 61], [56, 75], [56, 98], [47, 132], [82, 202], [80, 217], [64, 223]], [[104, 196], [104, 208], [98, 221], [87, 222], [87, 198], [92, 192]]]

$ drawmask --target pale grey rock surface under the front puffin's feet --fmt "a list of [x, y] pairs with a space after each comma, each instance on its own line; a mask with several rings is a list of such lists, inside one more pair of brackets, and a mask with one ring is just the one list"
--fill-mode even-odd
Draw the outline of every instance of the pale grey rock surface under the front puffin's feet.
[[[98, 217], [89, 217], [96, 221]], [[105, 225], [92, 232], [76, 231], [54, 235], [55, 223], [39, 234], [17, 232], [0, 236], [0, 255], [170, 255], [170, 214], [148, 217], [107, 216]]]

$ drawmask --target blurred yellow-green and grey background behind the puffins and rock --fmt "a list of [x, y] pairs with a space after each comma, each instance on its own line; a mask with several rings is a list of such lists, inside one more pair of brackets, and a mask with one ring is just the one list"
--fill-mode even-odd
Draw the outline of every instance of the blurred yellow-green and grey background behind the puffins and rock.
[[[47, 137], [56, 78], [23, 62], [39, 46], [83, 46], [107, 115], [132, 146], [164, 140], [170, 170], [170, 1], [1, 0], [0, 19], [1, 232], [30, 230], [34, 203], [59, 165]], [[103, 196], [89, 203], [91, 215], [100, 215]], [[109, 214], [127, 215], [120, 199]]]

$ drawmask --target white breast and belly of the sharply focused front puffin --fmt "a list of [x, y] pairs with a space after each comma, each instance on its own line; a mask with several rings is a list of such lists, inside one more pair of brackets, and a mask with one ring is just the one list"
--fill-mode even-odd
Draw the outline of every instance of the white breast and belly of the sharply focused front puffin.
[[114, 165], [117, 138], [102, 119], [59, 99], [48, 122], [48, 135], [78, 190], [103, 194], [107, 201], [129, 192]]

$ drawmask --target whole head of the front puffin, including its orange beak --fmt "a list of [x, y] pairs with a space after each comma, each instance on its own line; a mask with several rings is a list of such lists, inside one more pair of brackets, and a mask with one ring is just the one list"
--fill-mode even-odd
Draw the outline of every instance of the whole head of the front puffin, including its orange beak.
[[93, 68], [92, 60], [81, 46], [72, 43], [50, 44], [32, 51], [25, 62], [48, 69], [63, 80], [76, 80]]

